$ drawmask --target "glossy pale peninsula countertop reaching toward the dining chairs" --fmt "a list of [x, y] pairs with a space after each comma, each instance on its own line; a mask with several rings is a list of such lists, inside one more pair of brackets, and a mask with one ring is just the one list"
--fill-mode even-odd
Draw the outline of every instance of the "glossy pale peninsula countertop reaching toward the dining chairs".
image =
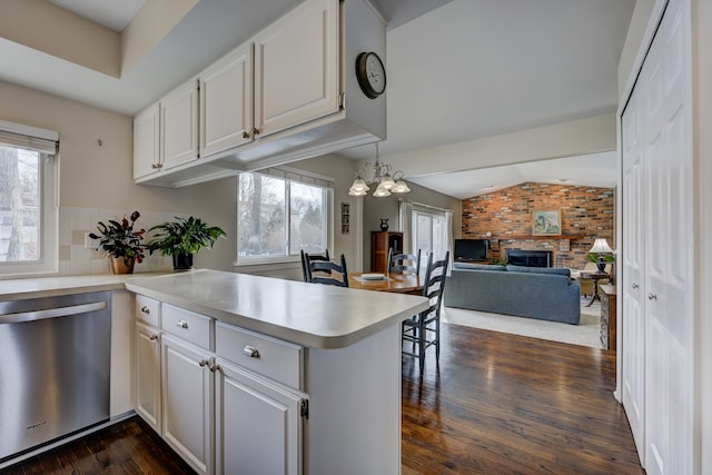
[[126, 288], [316, 348], [350, 346], [427, 308], [424, 297], [218, 270], [134, 275]]

